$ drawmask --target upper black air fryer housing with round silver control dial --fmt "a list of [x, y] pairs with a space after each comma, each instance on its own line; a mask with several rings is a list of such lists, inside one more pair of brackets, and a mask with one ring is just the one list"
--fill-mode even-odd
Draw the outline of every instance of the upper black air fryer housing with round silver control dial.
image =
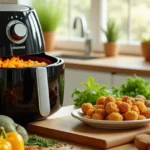
[[37, 14], [28, 6], [0, 4], [0, 57], [44, 53]]

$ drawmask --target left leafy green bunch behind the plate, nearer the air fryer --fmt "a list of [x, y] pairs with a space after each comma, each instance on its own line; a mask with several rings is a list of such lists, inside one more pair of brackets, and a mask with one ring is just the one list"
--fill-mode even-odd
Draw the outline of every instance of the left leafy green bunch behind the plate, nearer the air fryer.
[[81, 83], [84, 86], [84, 90], [75, 89], [72, 93], [72, 98], [74, 98], [74, 105], [80, 107], [83, 103], [91, 102], [95, 104], [95, 101], [100, 96], [110, 95], [108, 86], [100, 86], [97, 84], [93, 77], [89, 77], [87, 82]]

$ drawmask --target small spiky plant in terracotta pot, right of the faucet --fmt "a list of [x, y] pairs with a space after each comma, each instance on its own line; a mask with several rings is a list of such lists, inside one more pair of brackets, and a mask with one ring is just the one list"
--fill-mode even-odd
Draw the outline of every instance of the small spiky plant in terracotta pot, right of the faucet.
[[116, 56], [119, 52], [119, 45], [117, 40], [119, 38], [119, 28], [116, 25], [115, 20], [108, 19], [106, 30], [104, 32], [107, 42], [104, 43], [104, 52], [106, 56]]

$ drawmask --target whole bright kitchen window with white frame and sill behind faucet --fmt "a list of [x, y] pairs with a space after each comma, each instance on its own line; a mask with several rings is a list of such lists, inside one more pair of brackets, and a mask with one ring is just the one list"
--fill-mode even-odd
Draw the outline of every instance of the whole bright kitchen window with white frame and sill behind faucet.
[[[25, 2], [19, 0], [19, 3]], [[63, 0], [63, 5], [65, 16], [57, 29], [58, 48], [84, 49], [84, 38], [73, 29], [78, 14], [86, 18], [93, 50], [103, 50], [106, 40], [101, 28], [106, 26], [107, 18], [114, 18], [120, 27], [118, 42], [123, 53], [140, 53], [141, 35], [150, 33], [149, 0]]]

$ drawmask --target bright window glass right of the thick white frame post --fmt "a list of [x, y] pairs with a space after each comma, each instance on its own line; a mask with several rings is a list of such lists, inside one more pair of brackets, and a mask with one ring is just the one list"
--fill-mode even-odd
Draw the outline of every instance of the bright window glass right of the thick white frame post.
[[108, 0], [108, 17], [120, 26], [119, 41], [139, 42], [141, 35], [150, 33], [149, 8], [149, 0]]

